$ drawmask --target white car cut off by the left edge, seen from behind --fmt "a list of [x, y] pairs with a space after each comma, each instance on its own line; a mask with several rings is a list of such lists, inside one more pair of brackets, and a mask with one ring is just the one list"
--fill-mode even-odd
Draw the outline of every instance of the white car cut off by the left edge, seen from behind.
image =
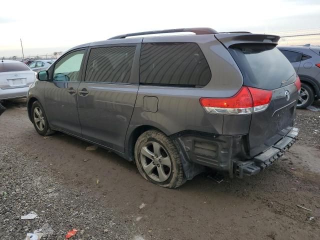
[[35, 72], [21, 61], [0, 61], [0, 100], [25, 97]]

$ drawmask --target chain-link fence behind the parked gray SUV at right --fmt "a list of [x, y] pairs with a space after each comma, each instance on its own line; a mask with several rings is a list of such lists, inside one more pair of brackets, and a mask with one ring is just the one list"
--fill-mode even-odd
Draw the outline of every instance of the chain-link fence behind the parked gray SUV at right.
[[313, 45], [320, 46], [320, 28], [269, 32], [269, 34], [281, 36], [278, 44], [282, 46], [288, 45]]

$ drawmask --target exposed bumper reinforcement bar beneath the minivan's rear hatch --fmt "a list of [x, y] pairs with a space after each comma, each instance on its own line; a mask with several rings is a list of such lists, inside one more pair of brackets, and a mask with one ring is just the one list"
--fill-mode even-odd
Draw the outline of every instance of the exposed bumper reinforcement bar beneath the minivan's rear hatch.
[[282, 156], [296, 141], [296, 136], [299, 132], [299, 129], [296, 127], [290, 128], [290, 131], [282, 139], [264, 152], [254, 156], [248, 161], [234, 162], [233, 169], [235, 175], [239, 178], [245, 175], [255, 175]]

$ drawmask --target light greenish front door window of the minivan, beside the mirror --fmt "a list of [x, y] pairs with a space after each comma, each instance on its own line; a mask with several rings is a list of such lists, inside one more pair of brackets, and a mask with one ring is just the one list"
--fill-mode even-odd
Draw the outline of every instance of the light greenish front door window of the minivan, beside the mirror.
[[79, 72], [85, 50], [63, 56], [54, 66], [53, 81], [80, 81]]

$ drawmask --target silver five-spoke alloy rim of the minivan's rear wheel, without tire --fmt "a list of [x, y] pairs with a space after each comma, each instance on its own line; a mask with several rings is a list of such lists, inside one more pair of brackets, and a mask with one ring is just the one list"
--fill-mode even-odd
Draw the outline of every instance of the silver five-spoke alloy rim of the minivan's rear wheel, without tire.
[[171, 174], [171, 159], [164, 147], [156, 142], [149, 141], [140, 151], [141, 165], [144, 172], [154, 181], [167, 180]]

